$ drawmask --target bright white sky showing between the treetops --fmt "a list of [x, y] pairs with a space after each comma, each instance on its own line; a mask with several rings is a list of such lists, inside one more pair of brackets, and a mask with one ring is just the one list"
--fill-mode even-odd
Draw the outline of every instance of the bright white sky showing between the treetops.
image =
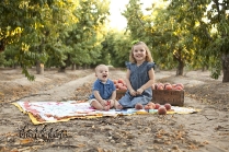
[[[126, 27], [126, 19], [121, 14], [125, 10], [125, 5], [129, 2], [129, 0], [111, 0], [110, 4], [110, 26], [112, 28], [123, 30]], [[151, 5], [153, 0], [140, 0], [144, 3], [142, 8], [147, 8], [147, 5]]]

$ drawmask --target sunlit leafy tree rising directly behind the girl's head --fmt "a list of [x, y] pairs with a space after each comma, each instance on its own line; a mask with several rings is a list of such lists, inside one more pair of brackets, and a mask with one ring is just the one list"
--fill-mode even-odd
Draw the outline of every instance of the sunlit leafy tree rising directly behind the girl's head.
[[[169, 37], [163, 37], [163, 32], [158, 31], [154, 27], [154, 16], [158, 15], [158, 11], [154, 10], [156, 8], [160, 8], [161, 10], [163, 7], [163, 2], [160, 1], [159, 3], [157, 2], [157, 4], [152, 3], [151, 5], [148, 5], [146, 10], [142, 10], [142, 3], [140, 3], [139, 0], [130, 0], [126, 5], [126, 10], [123, 12], [123, 15], [127, 19], [127, 32], [129, 32], [131, 40], [145, 42], [151, 50], [154, 62], [162, 68], [168, 68], [168, 65], [170, 65], [170, 67], [172, 67], [172, 65], [163, 61], [167, 60], [168, 57], [161, 58], [165, 56], [165, 50], [160, 40], [165, 43], [165, 39]], [[160, 16], [159, 20], [161, 17], [162, 16]]]

